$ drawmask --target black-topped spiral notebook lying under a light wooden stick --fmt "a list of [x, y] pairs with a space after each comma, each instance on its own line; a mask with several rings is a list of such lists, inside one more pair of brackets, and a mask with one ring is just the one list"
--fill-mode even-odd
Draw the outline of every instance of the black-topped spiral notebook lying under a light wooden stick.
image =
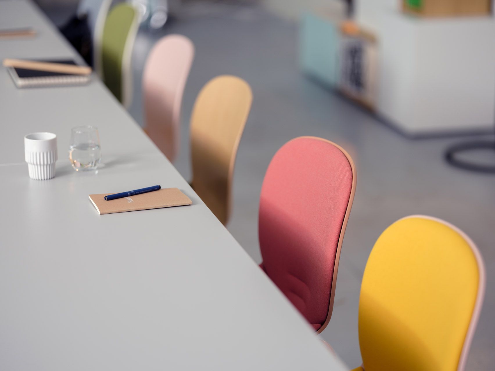
[[[71, 59], [47, 60], [44, 62], [77, 65]], [[90, 82], [90, 75], [71, 75], [59, 72], [28, 70], [24, 68], [7, 68], [17, 88], [36, 88], [49, 86], [85, 85]]]

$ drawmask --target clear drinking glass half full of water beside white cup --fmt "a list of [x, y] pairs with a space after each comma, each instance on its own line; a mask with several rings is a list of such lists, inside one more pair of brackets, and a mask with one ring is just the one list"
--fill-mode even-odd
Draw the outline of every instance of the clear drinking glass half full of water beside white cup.
[[72, 128], [69, 159], [76, 171], [95, 170], [101, 159], [98, 129], [94, 126]]

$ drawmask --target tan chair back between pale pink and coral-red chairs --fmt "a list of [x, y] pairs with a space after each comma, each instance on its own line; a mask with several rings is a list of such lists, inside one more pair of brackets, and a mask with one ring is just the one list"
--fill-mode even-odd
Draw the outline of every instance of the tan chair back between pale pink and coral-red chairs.
[[246, 81], [218, 76], [201, 89], [191, 116], [191, 185], [224, 225], [230, 215], [234, 163], [251, 101]]

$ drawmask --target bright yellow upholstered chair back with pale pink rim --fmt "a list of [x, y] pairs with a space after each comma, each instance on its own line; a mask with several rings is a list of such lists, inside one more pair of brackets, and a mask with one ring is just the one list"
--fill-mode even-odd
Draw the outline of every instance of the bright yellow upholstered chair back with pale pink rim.
[[432, 217], [400, 219], [378, 238], [364, 271], [364, 370], [463, 370], [484, 291], [483, 260], [466, 234]]

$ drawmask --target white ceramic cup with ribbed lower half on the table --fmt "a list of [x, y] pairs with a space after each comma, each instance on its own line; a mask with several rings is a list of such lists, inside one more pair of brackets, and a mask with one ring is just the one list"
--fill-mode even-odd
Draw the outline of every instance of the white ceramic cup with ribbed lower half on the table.
[[24, 155], [29, 177], [47, 180], [55, 176], [57, 136], [53, 133], [31, 133], [24, 137]]

